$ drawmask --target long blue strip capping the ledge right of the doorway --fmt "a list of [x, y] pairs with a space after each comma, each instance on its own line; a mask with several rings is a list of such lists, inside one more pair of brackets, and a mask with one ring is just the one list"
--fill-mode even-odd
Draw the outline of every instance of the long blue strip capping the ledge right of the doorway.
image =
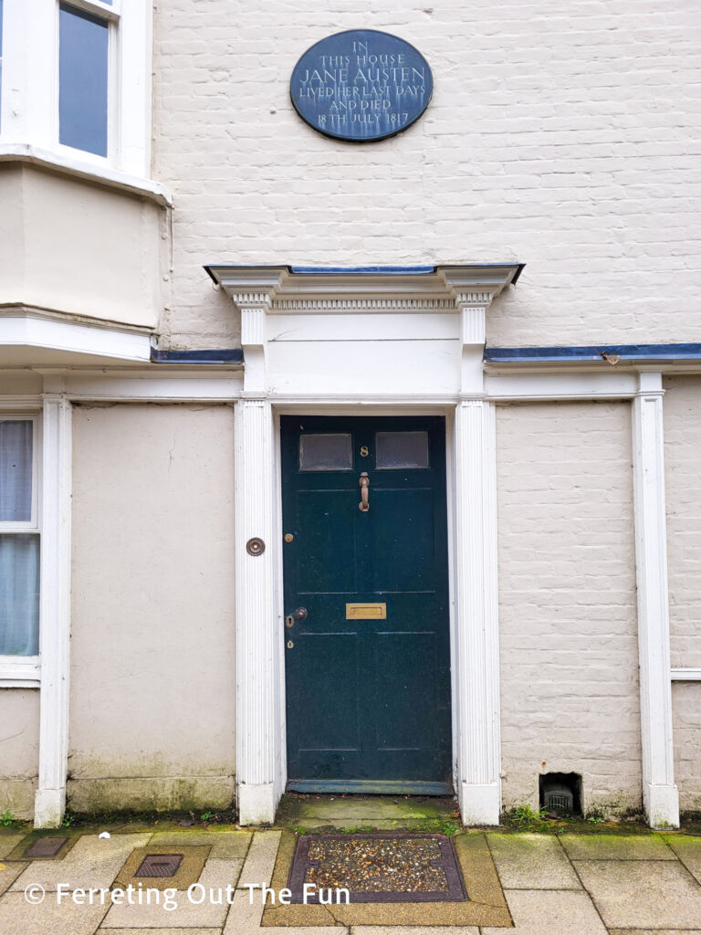
[[489, 364], [557, 364], [565, 361], [701, 360], [701, 344], [592, 344], [580, 347], [485, 348]]

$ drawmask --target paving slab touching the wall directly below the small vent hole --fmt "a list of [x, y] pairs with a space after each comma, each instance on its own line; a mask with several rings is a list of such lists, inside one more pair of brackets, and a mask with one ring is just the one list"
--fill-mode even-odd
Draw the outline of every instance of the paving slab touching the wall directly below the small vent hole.
[[581, 889], [557, 838], [543, 834], [487, 834], [505, 889]]

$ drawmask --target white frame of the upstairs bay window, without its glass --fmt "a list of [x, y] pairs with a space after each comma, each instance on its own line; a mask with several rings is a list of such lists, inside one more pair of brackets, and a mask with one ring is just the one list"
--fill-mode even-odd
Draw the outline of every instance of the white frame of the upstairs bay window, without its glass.
[[53, 153], [99, 176], [150, 176], [152, 8], [148, 0], [64, 0], [108, 22], [107, 156], [59, 142], [61, 0], [5, 0], [0, 153], [12, 146]]

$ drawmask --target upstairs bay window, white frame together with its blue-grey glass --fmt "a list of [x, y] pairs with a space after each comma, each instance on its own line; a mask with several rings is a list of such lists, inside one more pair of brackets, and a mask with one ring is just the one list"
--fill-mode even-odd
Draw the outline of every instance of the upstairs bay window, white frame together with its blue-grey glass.
[[0, 20], [0, 156], [149, 178], [149, 0], [0, 0]]

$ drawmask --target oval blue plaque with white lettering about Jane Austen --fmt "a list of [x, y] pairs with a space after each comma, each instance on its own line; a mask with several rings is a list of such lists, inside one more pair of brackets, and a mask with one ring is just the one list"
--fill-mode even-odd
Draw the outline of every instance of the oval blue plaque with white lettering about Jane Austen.
[[434, 80], [412, 45], [376, 29], [350, 29], [311, 46], [294, 66], [295, 110], [326, 137], [369, 143], [419, 120]]

